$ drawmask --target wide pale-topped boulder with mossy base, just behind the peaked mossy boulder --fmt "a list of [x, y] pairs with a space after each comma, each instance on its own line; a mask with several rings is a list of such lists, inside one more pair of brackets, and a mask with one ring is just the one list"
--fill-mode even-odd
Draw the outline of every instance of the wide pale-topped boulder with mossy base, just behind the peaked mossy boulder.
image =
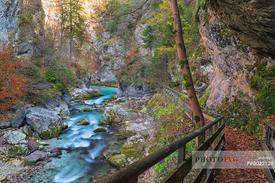
[[149, 132], [145, 126], [137, 123], [128, 123], [121, 129], [121, 134], [123, 137], [131, 137], [137, 133], [143, 135], [144, 137], [149, 135]]

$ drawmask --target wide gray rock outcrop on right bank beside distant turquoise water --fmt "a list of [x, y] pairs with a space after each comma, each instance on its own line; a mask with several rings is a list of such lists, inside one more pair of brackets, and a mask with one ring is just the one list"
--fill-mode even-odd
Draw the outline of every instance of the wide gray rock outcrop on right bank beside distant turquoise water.
[[153, 87], [146, 87], [143, 84], [131, 84], [121, 81], [118, 83], [117, 97], [143, 97], [150, 94]]

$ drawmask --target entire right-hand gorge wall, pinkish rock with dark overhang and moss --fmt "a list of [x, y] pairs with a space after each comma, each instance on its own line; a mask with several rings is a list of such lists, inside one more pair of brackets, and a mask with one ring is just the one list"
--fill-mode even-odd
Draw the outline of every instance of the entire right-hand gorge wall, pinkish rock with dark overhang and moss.
[[256, 114], [270, 114], [274, 109], [270, 104], [274, 102], [274, 2], [210, 1], [203, 9], [198, 13], [199, 31], [206, 50], [195, 63], [201, 68], [201, 60], [212, 62], [212, 71], [209, 65], [202, 69], [213, 73], [203, 74], [209, 83], [207, 107], [222, 113], [227, 108], [232, 120], [243, 122]]

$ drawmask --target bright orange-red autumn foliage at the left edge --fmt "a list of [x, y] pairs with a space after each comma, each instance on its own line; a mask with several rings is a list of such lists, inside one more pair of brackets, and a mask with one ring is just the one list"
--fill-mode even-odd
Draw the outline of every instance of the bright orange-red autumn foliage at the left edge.
[[12, 60], [11, 47], [7, 42], [0, 42], [0, 108], [7, 109], [25, 96], [26, 80], [20, 73], [23, 60]]

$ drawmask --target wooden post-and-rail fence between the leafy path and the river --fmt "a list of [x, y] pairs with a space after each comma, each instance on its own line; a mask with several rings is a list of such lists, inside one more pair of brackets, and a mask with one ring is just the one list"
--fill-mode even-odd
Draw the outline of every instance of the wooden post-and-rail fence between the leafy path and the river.
[[[181, 107], [187, 107], [190, 109], [190, 102], [188, 97], [184, 94], [180, 94], [170, 86], [164, 86], [164, 97], [168, 102], [174, 102]], [[201, 127], [200, 129], [189, 133], [188, 135], [162, 147], [161, 149], [150, 153], [148, 156], [141, 158], [140, 160], [120, 169], [116, 173], [109, 175], [107, 178], [100, 181], [100, 183], [137, 183], [138, 176], [144, 173], [155, 164], [168, 157], [173, 152], [178, 151], [177, 167], [166, 177], [161, 183], [180, 183], [191, 171], [192, 165], [192, 153], [186, 158], [186, 143], [196, 139], [200, 136], [199, 146], [194, 151], [206, 151], [211, 156], [212, 153], [219, 152], [223, 146], [224, 140], [224, 116], [221, 116], [213, 111], [203, 108], [203, 116], [209, 119], [211, 122]], [[194, 121], [194, 115], [190, 115], [186, 109], [184, 109], [192, 121]], [[216, 116], [217, 118], [213, 117]], [[205, 132], [208, 131], [208, 136], [205, 137]], [[212, 145], [213, 144], [213, 145]], [[209, 157], [208, 156], [208, 157]], [[203, 165], [203, 169], [197, 169], [197, 173], [192, 182], [210, 182], [214, 173], [213, 167], [215, 163], [206, 162]]]

